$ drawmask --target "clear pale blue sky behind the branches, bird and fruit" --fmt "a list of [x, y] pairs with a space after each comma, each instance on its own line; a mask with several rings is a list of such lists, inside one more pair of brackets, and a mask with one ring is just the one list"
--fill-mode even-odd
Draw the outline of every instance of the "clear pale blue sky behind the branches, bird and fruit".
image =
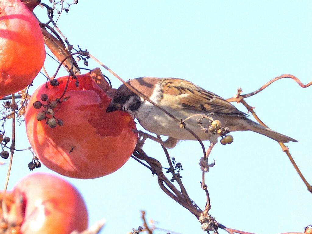
[[[179, 77], [227, 98], [238, 87], [252, 92], [280, 74], [293, 74], [303, 83], [312, 80], [311, 12], [311, 1], [79, 0], [64, 12], [58, 26], [71, 44], [86, 47], [124, 80]], [[40, 7], [36, 13], [43, 17]], [[89, 68], [98, 67], [91, 60], [89, 64]], [[52, 74], [57, 64], [48, 58], [46, 66]], [[120, 85], [102, 71], [114, 87]], [[39, 75], [35, 86], [43, 82], [45, 78]], [[312, 87], [303, 89], [284, 79], [246, 99], [268, 126], [299, 141], [287, 145], [310, 183], [311, 97]], [[241, 104], [236, 106], [246, 111]], [[210, 214], [223, 225], [248, 232], [303, 232], [312, 223], [312, 195], [280, 146], [253, 132], [232, 135], [232, 145], [218, 144], [211, 154], [216, 165], [206, 175]], [[28, 146], [22, 123], [17, 148]], [[166, 165], [159, 145], [147, 140], [144, 149]], [[182, 142], [169, 153], [182, 163], [185, 187], [203, 208], [200, 145]], [[16, 153], [10, 188], [30, 173], [27, 163], [31, 157], [29, 152]], [[6, 171], [7, 166], [2, 166], [1, 178]], [[44, 166], [35, 171], [51, 172]], [[102, 233], [130, 232], [142, 224], [140, 210], [146, 210], [158, 227], [202, 233], [196, 218], [164, 194], [157, 177], [133, 159], [106, 177], [68, 180], [85, 198], [90, 224], [107, 219]]]

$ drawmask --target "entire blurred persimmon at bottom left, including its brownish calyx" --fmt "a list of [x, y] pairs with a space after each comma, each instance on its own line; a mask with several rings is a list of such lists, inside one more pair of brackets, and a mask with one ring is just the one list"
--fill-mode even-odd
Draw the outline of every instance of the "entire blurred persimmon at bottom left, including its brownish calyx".
[[[1, 204], [2, 203], [2, 204]], [[0, 192], [0, 233], [69, 234], [88, 227], [88, 212], [78, 190], [46, 173], [22, 178], [12, 192]]]

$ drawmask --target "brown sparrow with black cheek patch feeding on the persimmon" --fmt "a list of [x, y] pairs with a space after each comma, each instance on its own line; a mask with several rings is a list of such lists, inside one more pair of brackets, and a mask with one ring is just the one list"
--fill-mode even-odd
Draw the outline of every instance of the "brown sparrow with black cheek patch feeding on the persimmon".
[[[291, 137], [250, 120], [246, 113], [238, 110], [224, 98], [190, 81], [178, 78], [140, 77], [129, 80], [127, 83], [179, 120], [186, 119], [183, 121], [185, 126], [190, 128], [201, 140], [217, 143], [219, 135], [202, 131], [197, 121], [198, 118], [201, 118], [200, 116], [210, 114], [214, 120], [221, 121], [222, 127], [228, 127], [231, 132], [249, 130], [270, 137], [277, 142], [297, 142]], [[132, 92], [124, 84], [117, 89], [106, 112], [116, 110], [128, 112], [147, 131], [168, 136], [163, 143], [167, 148], [175, 147], [180, 140], [196, 140], [172, 117]], [[211, 121], [208, 118], [203, 118], [202, 125], [208, 127], [211, 125]]]

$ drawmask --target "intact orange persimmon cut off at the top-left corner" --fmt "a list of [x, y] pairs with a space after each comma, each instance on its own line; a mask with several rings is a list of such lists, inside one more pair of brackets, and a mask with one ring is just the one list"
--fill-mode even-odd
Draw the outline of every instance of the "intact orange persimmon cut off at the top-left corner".
[[45, 58], [33, 13], [19, 0], [0, 0], [0, 98], [29, 85]]

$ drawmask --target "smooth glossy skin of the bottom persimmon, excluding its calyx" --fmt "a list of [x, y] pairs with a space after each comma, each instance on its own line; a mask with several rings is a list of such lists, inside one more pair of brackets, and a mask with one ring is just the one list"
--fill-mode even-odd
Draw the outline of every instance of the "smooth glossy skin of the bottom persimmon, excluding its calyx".
[[68, 234], [88, 227], [88, 212], [78, 190], [47, 173], [32, 173], [13, 189], [23, 197], [21, 234]]

